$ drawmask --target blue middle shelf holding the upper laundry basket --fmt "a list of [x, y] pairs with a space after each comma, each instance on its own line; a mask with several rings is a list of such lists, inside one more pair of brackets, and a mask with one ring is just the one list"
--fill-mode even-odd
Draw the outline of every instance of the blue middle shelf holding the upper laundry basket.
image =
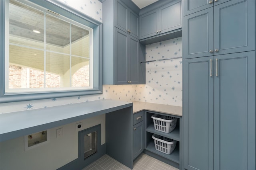
[[147, 132], [150, 132], [150, 133], [154, 133], [156, 135], [161, 135], [163, 137], [168, 137], [170, 139], [174, 139], [175, 141], [180, 141], [180, 127], [177, 125], [175, 127], [175, 129], [173, 131], [171, 131], [170, 133], [164, 133], [164, 132], [161, 132], [161, 131], [157, 131], [155, 128], [154, 128], [154, 124], [150, 124], [147, 129], [146, 129]]

